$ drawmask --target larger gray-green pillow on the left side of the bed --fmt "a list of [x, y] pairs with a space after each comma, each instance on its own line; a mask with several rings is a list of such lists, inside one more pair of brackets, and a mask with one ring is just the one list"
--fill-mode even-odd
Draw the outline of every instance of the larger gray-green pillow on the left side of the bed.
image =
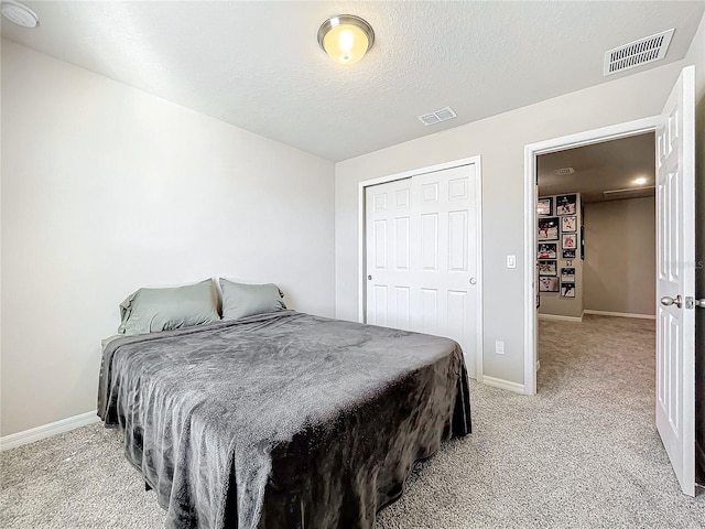
[[120, 303], [124, 335], [155, 333], [220, 320], [213, 280], [170, 289], [140, 289]]

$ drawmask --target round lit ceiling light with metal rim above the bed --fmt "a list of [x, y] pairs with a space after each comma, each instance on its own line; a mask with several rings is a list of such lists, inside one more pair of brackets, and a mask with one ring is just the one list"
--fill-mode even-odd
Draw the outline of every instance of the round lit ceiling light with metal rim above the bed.
[[339, 64], [357, 63], [373, 43], [372, 26], [354, 14], [332, 17], [318, 29], [318, 44]]

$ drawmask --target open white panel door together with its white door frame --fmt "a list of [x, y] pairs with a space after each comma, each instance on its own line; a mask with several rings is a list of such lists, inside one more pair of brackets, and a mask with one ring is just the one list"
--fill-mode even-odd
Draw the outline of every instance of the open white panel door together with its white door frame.
[[657, 133], [655, 424], [681, 489], [695, 495], [695, 68], [683, 68], [659, 116], [524, 148], [524, 392], [536, 392], [536, 156]]

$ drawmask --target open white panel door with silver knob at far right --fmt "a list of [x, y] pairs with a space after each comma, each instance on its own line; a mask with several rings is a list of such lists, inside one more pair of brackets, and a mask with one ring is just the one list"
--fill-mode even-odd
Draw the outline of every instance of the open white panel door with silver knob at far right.
[[695, 495], [695, 108], [684, 68], [657, 130], [657, 428]]

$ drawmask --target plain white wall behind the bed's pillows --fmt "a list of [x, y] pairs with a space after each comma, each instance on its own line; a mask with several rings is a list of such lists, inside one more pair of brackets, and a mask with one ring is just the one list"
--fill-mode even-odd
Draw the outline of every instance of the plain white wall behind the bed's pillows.
[[2, 41], [2, 424], [96, 408], [143, 285], [272, 281], [334, 314], [334, 166]]

